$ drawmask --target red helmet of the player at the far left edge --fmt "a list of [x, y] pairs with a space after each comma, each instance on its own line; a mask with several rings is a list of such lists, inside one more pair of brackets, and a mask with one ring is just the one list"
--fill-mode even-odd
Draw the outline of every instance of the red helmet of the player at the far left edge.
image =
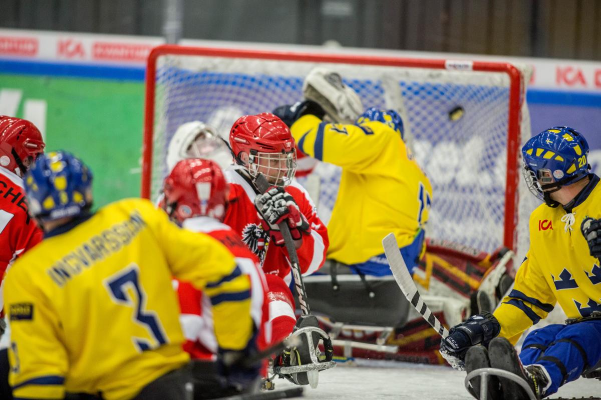
[[25, 175], [46, 144], [40, 130], [26, 119], [0, 115], [0, 166]]

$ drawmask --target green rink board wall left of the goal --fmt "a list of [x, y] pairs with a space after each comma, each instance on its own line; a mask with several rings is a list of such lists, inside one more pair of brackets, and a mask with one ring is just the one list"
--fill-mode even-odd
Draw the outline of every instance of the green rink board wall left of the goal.
[[0, 74], [1, 89], [45, 100], [46, 150], [67, 150], [94, 173], [95, 208], [139, 196], [144, 84], [120, 80]]

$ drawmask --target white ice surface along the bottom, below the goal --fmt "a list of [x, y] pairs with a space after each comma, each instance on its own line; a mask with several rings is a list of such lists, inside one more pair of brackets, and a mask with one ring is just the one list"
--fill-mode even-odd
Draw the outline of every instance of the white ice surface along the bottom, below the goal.
[[[365, 365], [363, 365], [365, 364]], [[447, 366], [400, 362], [363, 361], [359, 366], [337, 365], [319, 373], [317, 389], [305, 387], [309, 399], [473, 399], [463, 386], [465, 372]], [[294, 386], [283, 379], [275, 380], [276, 389]], [[601, 382], [584, 379], [561, 387], [552, 398], [588, 397], [601, 394]]]

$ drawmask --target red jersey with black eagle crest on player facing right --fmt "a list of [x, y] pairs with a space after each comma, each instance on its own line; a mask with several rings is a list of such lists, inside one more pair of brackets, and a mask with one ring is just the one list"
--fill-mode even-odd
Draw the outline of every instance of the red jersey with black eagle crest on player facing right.
[[[242, 241], [258, 256], [265, 273], [274, 273], [284, 279], [286, 284], [290, 284], [292, 273], [288, 251], [284, 246], [269, 245], [269, 233], [261, 227], [255, 209], [257, 193], [251, 182], [237, 172], [236, 169], [239, 168], [234, 166], [224, 171], [225, 179], [230, 184], [230, 203], [224, 223], [242, 236]], [[326, 259], [328, 230], [319, 219], [316, 206], [301, 185], [293, 182], [285, 187], [285, 191], [296, 201], [311, 227], [310, 233], [303, 236], [301, 247], [296, 249], [302, 275], [310, 275], [322, 267]]]

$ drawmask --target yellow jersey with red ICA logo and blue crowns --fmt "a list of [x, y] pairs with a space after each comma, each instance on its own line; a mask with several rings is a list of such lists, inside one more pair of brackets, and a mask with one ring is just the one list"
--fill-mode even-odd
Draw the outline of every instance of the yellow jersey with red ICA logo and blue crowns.
[[587, 216], [601, 217], [599, 177], [589, 176], [588, 185], [567, 206], [541, 204], [530, 215], [530, 249], [513, 290], [494, 313], [500, 335], [513, 343], [556, 303], [569, 318], [601, 311], [599, 260], [590, 255], [580, 229]]

